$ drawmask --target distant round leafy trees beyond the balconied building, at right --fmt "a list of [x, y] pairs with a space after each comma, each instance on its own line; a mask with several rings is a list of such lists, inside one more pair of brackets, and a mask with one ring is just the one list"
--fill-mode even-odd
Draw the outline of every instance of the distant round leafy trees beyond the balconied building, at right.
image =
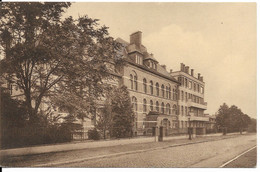
[[242, 133], [248, 128], [251, 118], [244, 114], [237, 106], [228, 107], [227, 104], [220, 106], [216, 117], [216, 124], [219, 128], [227, 128], [228, 132]]

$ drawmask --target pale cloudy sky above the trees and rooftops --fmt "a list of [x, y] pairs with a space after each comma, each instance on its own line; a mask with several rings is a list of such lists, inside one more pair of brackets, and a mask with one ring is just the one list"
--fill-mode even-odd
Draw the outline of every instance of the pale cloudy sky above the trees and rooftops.
[[201, 73], [206, 113], [224, 102], [256, 118], [256, 3], [74, 3], [66, 16], [87, 14], [129, 41], [143, 45], [167, 70], [180, 63]]

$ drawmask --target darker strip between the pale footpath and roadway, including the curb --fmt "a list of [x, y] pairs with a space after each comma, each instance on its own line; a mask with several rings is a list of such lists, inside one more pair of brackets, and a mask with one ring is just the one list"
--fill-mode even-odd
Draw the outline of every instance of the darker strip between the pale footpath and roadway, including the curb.
[[94, 159], [142, 153], [157, 149], [165, 149], [169, 147], [185, 146], [190, 144], [198, 144], [203, 142], [228, 139], [232, 137], [239, 137], [236, 135], [237, 134], [226, 136], [207, 135], [207, 137], [200, 136], [197, 138], [193, 138], [192, 140], [189, 140], [188, 138], [183, 138], [184, 136], [180, 136], [178, 137], [178, 139], [166, 140], [164, 142], [134, 143], [126, 145], [114, 145], [109, 147], [93, 147], [78, 150], [49, 152], [42, 154], [5, 156], [2, 157], [1, 165], [6, 167], [58, 167], [62, 164], [64, 165], [78, 163]]

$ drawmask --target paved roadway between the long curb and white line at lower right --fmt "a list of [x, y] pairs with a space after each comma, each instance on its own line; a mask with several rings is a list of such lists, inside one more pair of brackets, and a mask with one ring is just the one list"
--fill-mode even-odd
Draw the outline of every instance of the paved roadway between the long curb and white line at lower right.
[[212, 142], [64, 164], [59, 167], [219, 167], [255, 145], [256, 135], [244, 135]]

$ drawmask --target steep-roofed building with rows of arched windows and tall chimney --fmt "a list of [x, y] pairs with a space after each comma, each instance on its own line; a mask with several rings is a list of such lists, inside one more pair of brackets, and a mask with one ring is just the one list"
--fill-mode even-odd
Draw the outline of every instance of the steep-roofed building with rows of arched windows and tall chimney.
[[[177, 129], [177, 88], [179, 82], [160, 65], [142, 45], [142, 32], [130, 35], [130, 43], [117, 39], [123, 44], [124, 60], [127, 62], [119, 73], [121, 84], [127, 86], [135, 112], [134, 132], [146, 133], [146, 123], [163, 125], [168, 130]], [[149, 120], [148, 115], [153, 115]], [[151, 119], [151, 118], [150, 118]]]

